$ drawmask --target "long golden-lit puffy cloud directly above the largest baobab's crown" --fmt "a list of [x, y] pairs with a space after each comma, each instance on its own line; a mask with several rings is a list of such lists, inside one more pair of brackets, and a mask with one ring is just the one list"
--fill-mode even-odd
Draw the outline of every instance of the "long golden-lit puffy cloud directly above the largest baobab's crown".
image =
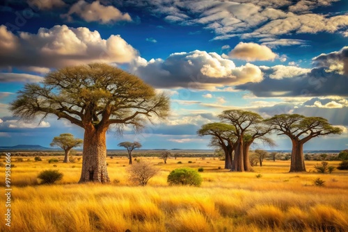
[[137, 51], [120, 35], [102, 39], [98, 31], [86, 27], [54, 26], [38, 33], [15, 35], [0, 26], [0, 67], [15, 66], [38, 70], [81, 63], [129, 63]]

